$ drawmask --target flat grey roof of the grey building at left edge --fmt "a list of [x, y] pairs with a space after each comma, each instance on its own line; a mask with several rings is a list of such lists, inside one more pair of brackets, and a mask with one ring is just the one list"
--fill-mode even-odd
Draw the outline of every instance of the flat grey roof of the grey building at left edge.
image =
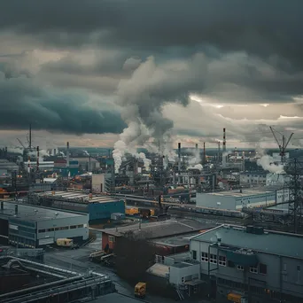
[[[15, 206], [18, 205], [18, 214], [15, 215]], [[0, 209], [0, 218], [17, 218], [25, 221], [45, 221], [50, 219], [74, 218], [86, 214], [78, 214], [73, 212], [62, 212], [57, 209], [45, 208], [41, 206], [30, 206], [26, 204], [18, 204], [12, 201], [4, 202], [4, 209]]]

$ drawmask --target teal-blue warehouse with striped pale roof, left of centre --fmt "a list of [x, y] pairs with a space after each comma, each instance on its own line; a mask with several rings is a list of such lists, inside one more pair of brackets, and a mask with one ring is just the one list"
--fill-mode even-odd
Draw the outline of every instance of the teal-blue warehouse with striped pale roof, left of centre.
[[125, 214], [123, 200], [83, 191], [47, 191], [33, 194], [29, 203], [89, 214], [90, 222], [111, 219], [111, 214]]

